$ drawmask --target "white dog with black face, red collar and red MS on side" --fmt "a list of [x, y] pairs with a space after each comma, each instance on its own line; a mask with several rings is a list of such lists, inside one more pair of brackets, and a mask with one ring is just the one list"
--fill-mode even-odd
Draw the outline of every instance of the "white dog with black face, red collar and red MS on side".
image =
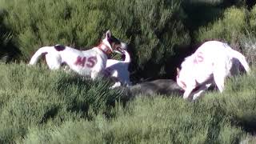
[[126, 49], [126, 44], [120, 42], [118, 38], [106, 32], [102, 42], [91, 50], [76, 50], [69, 46], [45, 46], [40, 48], [30, 59], [30, 65], [35, 65], [38, 59], [46, 56], [46, 63], [50, 70], [59, 69], [62, 64], [66, 64], [70, 70], [90, 78], [96, 78], [98, 74], [102, 74], [106, 68], [106, 60], [108, 55], [114, 50], [121, 51]]

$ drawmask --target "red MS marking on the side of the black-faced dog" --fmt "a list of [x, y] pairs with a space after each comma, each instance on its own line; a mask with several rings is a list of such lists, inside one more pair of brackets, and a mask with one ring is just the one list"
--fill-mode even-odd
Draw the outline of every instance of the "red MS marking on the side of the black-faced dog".
[[95, 66], [95, 64], [97, 63], [97, 58], [96, 57], [80, 57], [78, 56], [77, 60], [74, 62], [74, 65], [76, 66], [87, 66], [89, 68], [92, 68]]

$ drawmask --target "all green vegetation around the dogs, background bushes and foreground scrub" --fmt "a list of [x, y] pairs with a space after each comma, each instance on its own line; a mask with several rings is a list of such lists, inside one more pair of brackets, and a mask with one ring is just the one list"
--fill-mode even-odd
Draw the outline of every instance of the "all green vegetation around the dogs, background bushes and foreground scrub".
[[[0, 143], [254, 143], [255, 18], [243, 0], [0, 0]], [[86, 50], [108, 29], [129, 44], [133, 82], [174, 78], [209, 39], [242, 51], [253, 70], [197, 102], [123, 102], [105, 79], [26, 65], [41, 46]]]

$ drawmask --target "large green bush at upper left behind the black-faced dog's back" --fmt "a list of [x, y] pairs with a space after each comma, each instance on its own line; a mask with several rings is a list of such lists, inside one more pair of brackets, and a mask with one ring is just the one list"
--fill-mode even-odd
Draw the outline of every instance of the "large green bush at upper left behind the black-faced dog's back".
[[86, 49], [97, 44], [107, 29], [126, 41], [130, 23], [118, 17], [120, 13], [111, 13], [115, 9], [108, 3], [15, 0], [4, 1], [2, 7], [8, 12], [5, 24], [13, 30], [15, 43], [27, 60], [39, 47], [57, 43]]

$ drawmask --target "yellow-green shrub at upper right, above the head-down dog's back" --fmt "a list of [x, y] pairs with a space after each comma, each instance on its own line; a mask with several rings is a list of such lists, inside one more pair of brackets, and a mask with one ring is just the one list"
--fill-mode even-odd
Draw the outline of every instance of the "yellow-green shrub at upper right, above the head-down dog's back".
[[198, 42], [221, 40], [241, 51], [250, 64], [256, 59], [256, 8], [252, 10], [231, 7], [224, 12], [223, 18], [209, 26], [199, 28], [196, 38]]

